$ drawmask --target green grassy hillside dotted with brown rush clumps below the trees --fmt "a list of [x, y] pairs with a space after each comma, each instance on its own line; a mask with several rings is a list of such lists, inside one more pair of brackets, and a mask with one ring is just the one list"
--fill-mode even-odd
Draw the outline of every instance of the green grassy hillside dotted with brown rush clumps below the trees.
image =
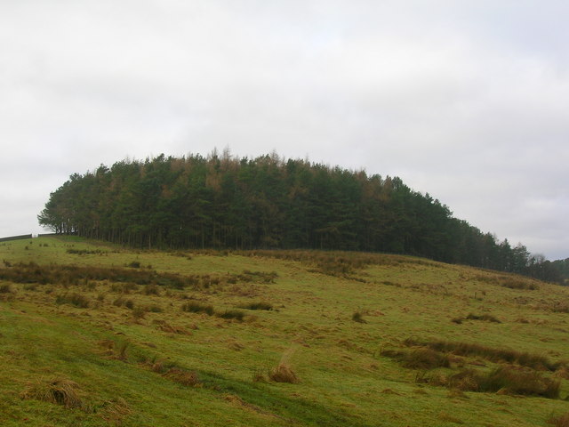
[[567, 425], [565, 287], [77, 238], [1, 243], [0, 260], [4, 426]]

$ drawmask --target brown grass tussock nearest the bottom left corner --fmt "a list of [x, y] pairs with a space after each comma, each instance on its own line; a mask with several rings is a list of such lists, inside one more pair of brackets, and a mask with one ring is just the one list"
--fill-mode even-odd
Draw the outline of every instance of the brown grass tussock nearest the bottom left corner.
[[52, 378], [30, 384], [20, 393], [20, 398], [42, 400], [68, 408], [87, 409], [80, 397], [79, 385], [67, 378]]

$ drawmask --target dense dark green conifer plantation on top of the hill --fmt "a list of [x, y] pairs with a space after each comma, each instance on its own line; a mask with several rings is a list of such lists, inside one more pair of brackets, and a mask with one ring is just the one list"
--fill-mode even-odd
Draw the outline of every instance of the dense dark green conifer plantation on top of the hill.
[[[57, 233], [144, 247], [314, 248], [413, 254], [557, 280], [395, 177], [276, 154], [121, 161], [75, 173], [38, 215]], [[546, 271], [547, 270], [547, 271]]]

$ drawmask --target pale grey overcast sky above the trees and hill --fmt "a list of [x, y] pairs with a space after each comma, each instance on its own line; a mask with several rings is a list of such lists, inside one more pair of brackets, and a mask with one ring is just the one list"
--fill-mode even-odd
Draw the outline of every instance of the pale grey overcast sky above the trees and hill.
[[566, 0], [1, 0], [0, 237], [125, 157], [399, 176], [569, 257]]

